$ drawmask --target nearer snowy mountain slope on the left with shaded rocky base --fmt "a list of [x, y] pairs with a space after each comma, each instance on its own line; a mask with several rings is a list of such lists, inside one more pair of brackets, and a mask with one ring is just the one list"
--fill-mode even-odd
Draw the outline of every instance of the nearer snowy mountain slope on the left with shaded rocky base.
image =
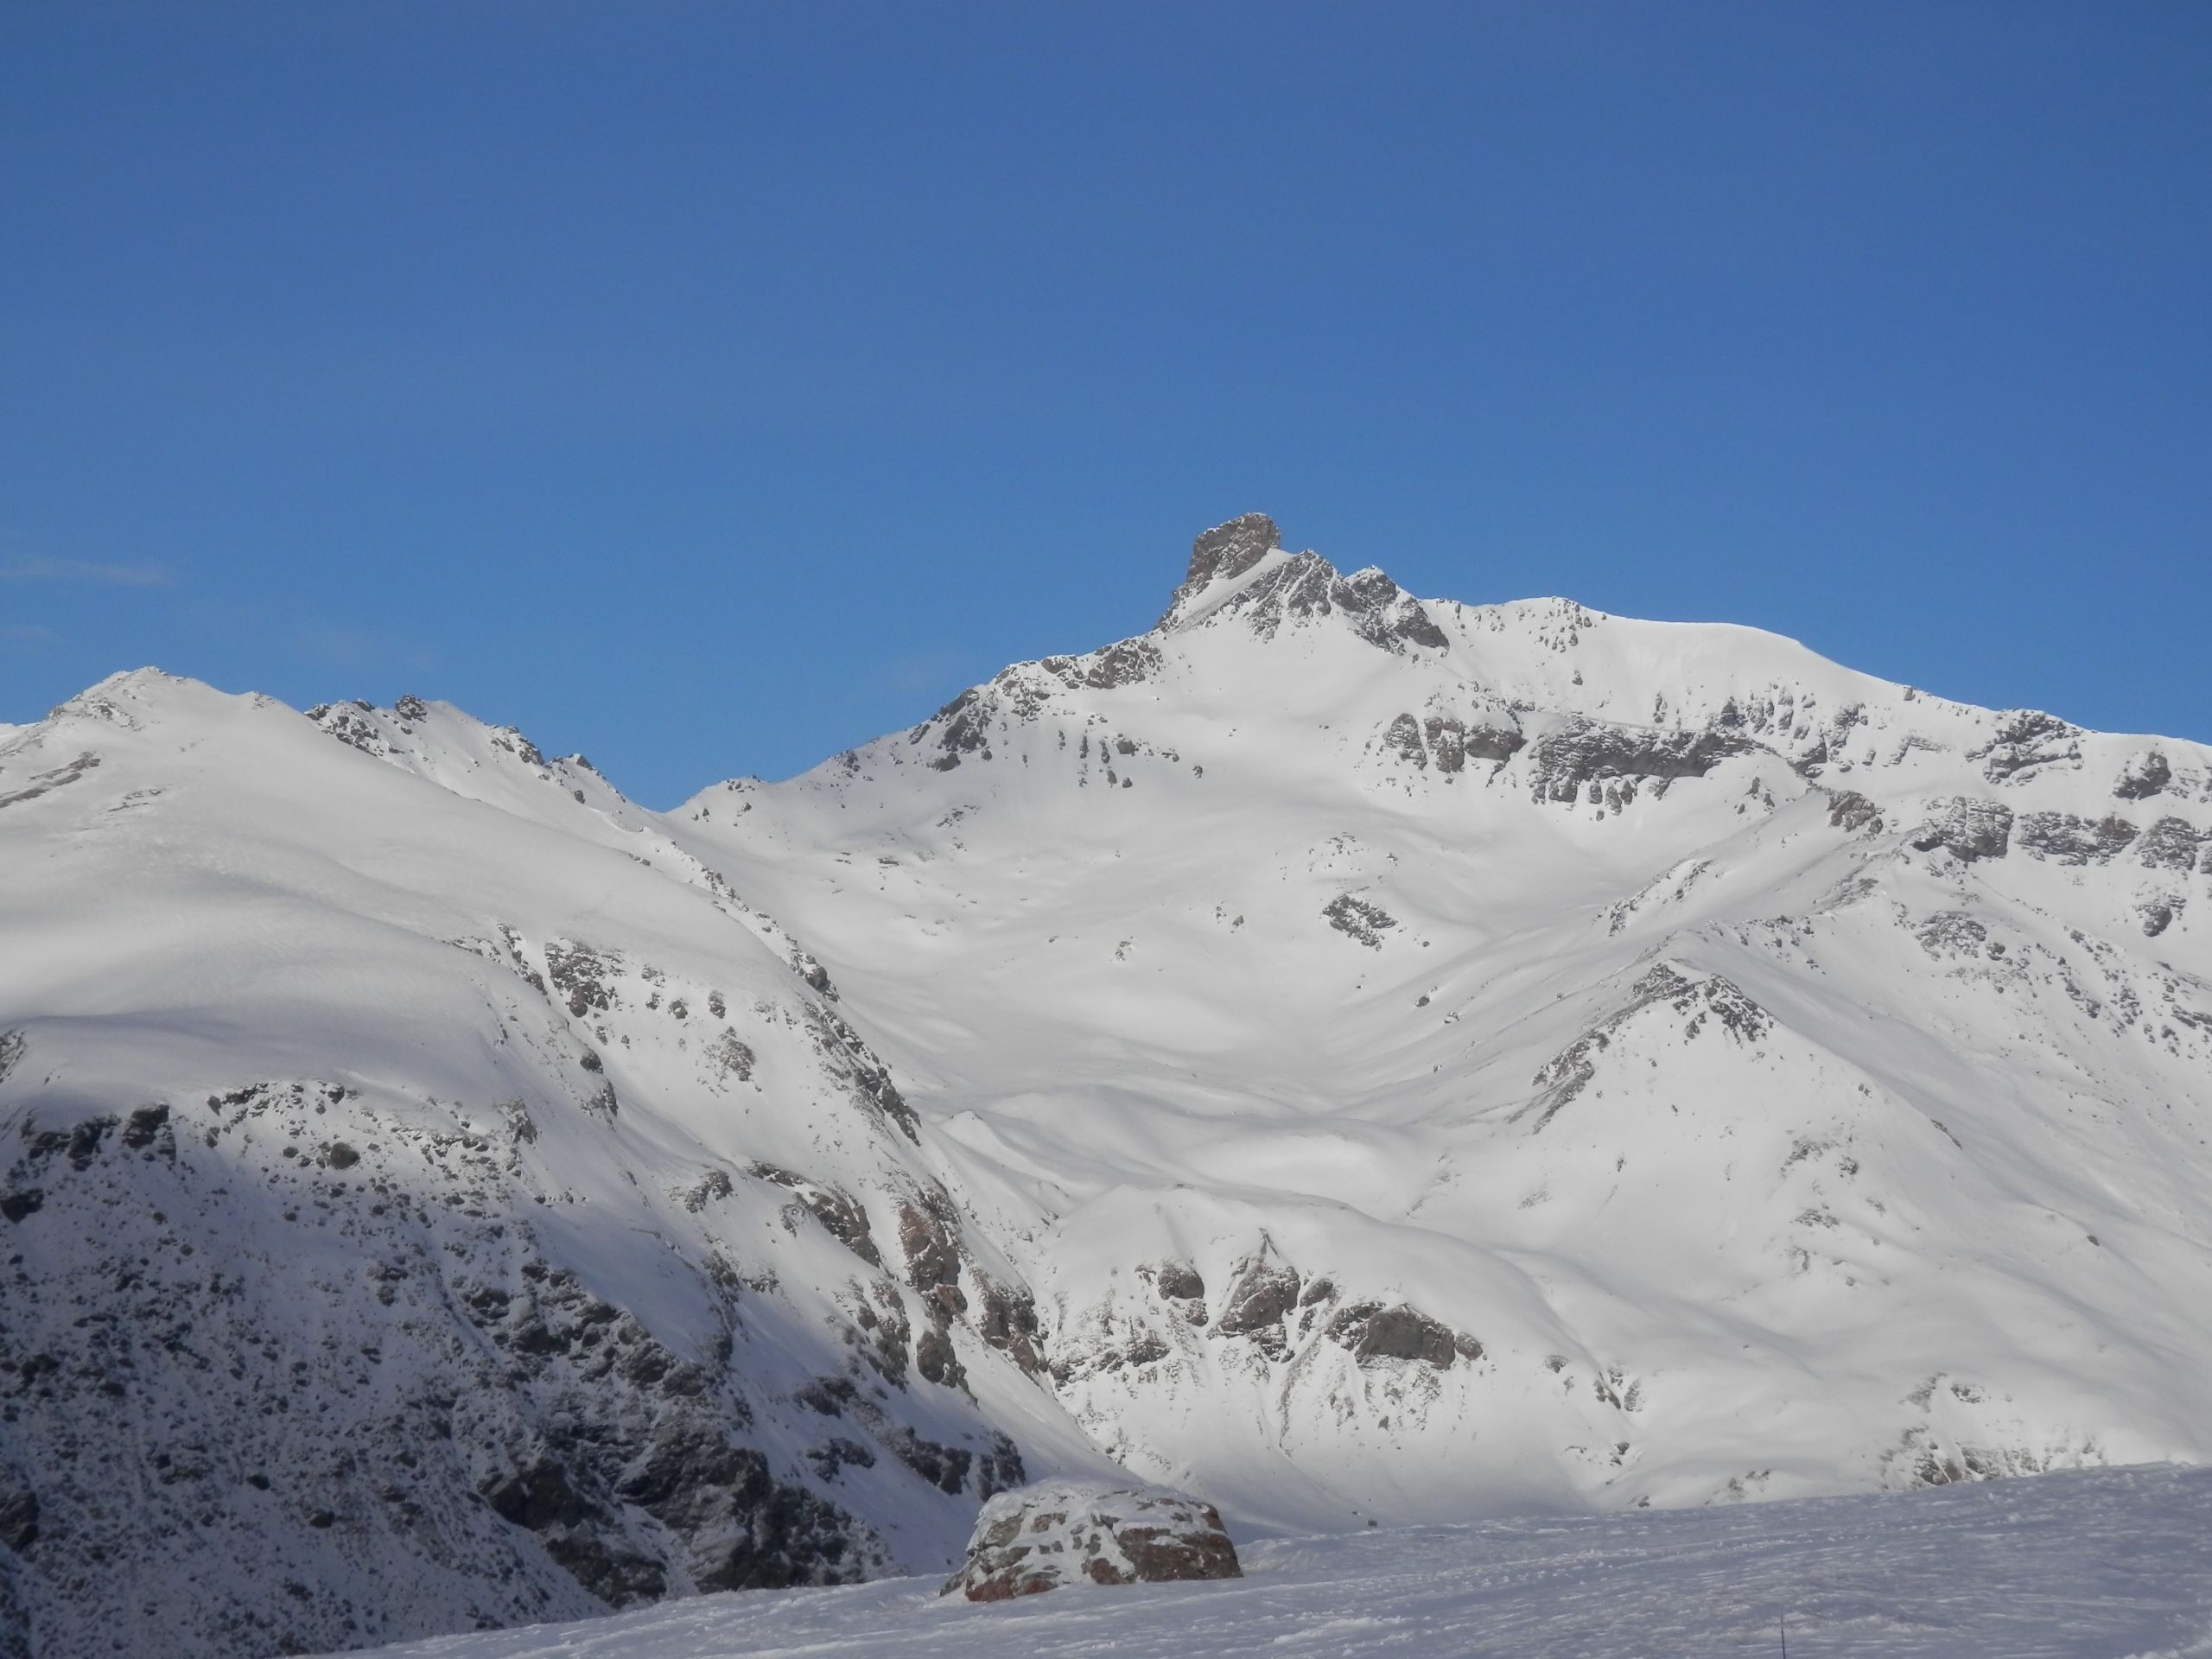
[[137, 672], [0, 836], [0, 1652], [942, 1571], [1106, 1469], [827, 982], [580, 763]]

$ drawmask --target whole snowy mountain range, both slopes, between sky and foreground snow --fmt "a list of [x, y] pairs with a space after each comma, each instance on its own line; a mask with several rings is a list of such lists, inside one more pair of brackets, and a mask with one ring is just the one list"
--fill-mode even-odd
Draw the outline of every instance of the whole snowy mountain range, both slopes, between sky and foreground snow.
[[416, 699], [0, 739], [0, 1632], [938, 1571], [1108, 1458], [2205, 1455], [2212, 752], [1279, 540], [670, 814]]

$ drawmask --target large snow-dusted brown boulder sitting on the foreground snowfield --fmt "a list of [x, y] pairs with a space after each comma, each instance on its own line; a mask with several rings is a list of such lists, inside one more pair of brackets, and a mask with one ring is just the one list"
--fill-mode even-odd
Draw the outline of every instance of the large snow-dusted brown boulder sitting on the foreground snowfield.
[[1234, 1577], [1243, 1577], [1237, 1546], [1212, 1504], [1168, 1486], [1040, 1480], [982, 1506], [945, 1595], [1006, 1601], [1060, 1584]]

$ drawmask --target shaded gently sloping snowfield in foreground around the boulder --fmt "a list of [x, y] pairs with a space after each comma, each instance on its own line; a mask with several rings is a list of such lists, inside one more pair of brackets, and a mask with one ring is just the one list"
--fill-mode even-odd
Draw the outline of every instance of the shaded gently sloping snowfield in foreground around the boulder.
[[723, 1655], [1772, 1655], [2152, 1659], [2212, 1652], [2212, 1471], [1420, 1526], [1245, 1546], [1243, 1579], [998, 1606], [933, 1579], [759, 1590], [440, 1637], [422, 1659]]

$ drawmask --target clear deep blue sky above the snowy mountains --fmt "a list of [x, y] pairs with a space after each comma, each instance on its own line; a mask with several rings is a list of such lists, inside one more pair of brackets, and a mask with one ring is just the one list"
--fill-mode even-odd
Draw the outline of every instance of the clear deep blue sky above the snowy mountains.
[[0, 719], [666, 805], [1248, 509], [2212, 739], [2212, 7], [0, 7]]

